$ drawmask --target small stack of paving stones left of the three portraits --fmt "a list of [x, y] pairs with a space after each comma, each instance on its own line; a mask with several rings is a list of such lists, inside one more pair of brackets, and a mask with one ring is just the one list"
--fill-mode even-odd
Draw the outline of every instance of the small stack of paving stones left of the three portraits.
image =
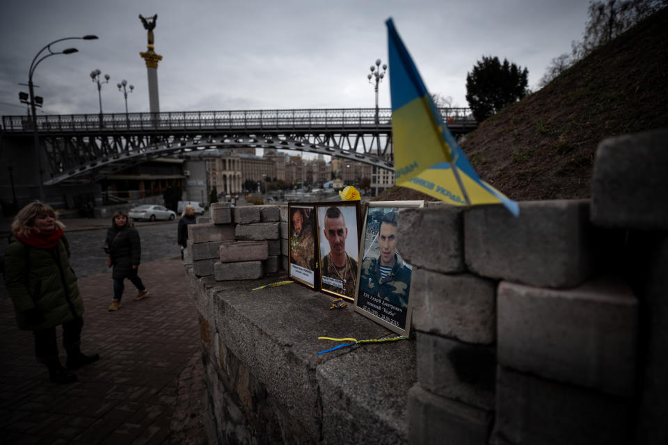
[[209, 207], [207, 223], [188, 226], [184, 263], [198, 277], [217, 281], [256, 280], [280, 266], [278, 206]]

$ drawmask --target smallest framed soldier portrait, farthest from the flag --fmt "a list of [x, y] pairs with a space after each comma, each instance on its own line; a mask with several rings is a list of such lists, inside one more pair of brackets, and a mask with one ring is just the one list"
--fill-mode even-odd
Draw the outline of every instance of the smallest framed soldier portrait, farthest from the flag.
[[289, 276], [311, 289], [319, 289], [315, 203], [289, 202], [287, 207]]

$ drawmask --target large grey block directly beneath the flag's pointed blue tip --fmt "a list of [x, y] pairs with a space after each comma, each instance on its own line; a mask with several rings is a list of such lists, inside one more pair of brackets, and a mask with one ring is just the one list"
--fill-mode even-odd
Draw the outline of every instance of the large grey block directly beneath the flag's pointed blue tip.
[[569, 288], [593, 270], [588, 200], [520, 202], [520, 216], [502, 205], [464, 213], [466, 266], [484, 277]]

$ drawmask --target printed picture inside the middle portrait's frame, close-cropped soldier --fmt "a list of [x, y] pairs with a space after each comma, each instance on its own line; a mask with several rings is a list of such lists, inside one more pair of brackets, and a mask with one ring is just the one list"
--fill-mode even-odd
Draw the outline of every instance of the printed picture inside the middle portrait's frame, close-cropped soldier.
[[[326, 209], [326, 210], [325, 210]], [[348, 207], [352, 212], [356, 212], [355, 207]], [[328, 241], [328, 247], [323, 245], [321, 239], [320, 252], [326, 252], [321, 258], [321, 287], [323, 290], [331, 291], [337, 295], [355, 299], [355, 289], [357, 284], [357, 220], [349, 221], [350, 227], [355, 227], [351, 232], [353, 252], [346, 251], [347, 238], [349, 236], [349, 225], [346, 225], [346, 219], [339, 207], [323, 207], [320, 211], [325, 211], [323, 219], [323, 234]], [[351, 213], [351, 216], [356, 213]], [[319, 213], [320, 216], [320, 213]], [[349, 216], [349, 218], [351, 217]], [[322, 218], [319, 218], [322, 219]]]

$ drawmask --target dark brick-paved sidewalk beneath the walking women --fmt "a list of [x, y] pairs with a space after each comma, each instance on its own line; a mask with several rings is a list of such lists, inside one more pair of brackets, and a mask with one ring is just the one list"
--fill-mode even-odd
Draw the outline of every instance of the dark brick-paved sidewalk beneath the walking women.
[[[49, 382], [35, 362], [32, 333], [17, 329], [10, 299], [0, 298], [1, 442], [206, 443], [199, 325], [182, 261], [142, 264], [139, 275], [150, 296], [133, 301], [136, 289], [126, 280], [116, 312], [107, 311], [111, 273], [79, 280], [81, 349], [101, 359], [77, 370], [69, 385]], [[60, 338], [58, 348], [64, 364]]]

